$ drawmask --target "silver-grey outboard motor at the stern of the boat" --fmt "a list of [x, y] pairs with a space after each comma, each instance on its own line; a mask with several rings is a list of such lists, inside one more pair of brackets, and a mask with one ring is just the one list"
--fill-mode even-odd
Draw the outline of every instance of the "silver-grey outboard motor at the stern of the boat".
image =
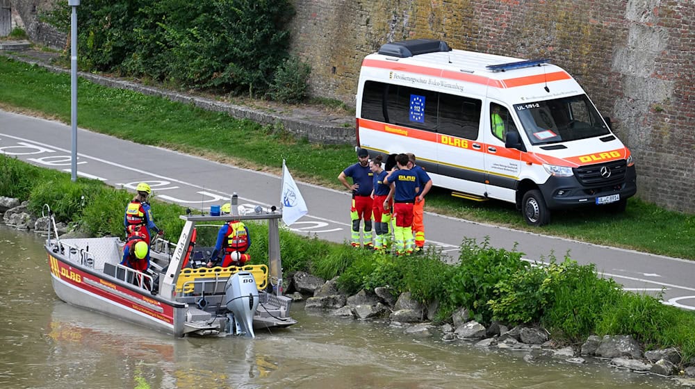
[[255, 338], [254, 314], [259, 306], [256, 279], [249, 272], [238, 272], [224, 286], [224, 304], [227, 306], [227, 332]]

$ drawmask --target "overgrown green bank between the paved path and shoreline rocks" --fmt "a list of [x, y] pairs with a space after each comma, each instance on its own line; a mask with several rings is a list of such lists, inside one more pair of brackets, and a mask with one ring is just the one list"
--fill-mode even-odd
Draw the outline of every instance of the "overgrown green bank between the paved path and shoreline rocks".
[[[124, 237], [124, 204], [132, 194], [101, 181], [28, 165], [0, 154], [0, 196], [29, 199], [40, 214], [49, 204], [60, 222], [90, 236]], [[152, 212], [165, 238], [177, 240], [183, 208], [152, 201]], [[267, 263], [267, 227], [249, 223], [254, 263]], [[216, 229], [199, 233], [198, 244], [213, 245]], [[438, 301], [436, 321], [450, 322], [453, 312], [468, 308], [475, 320], [489, 324], [539, 324], [555, 340], [578, 345], [591, 334], [631, 335], [646, 349], [678, 347], [683, 361], [695, 356], [695, 313], [664, 306], [654, 297], [623, 292], [612, 280], [598, 278], [591, 265], [571, 258], [551, 259], [547, 267], [521, 260], [521, 253], [466, 240], [457, 265], [447, 265], [436, 251], [424, 256], [393, 257], [354, 250], [281, 229], [284, 272], [302, 270], [332, 279], [347, 294], [388, 285], [424, 304]]]

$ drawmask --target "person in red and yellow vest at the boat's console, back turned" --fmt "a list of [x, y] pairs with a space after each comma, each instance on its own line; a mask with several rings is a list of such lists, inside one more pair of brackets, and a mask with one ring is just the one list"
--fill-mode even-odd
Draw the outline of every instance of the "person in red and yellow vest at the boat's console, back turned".
[[[229, 213], [231, 206], [224, 204], [220, 211]], [[243, 266], [251, 256], [246, 251], [251, 247], [251, 234], [248, 227], [240, 220], [230, 220], [227, 224], [220, 227], [218, 239], [215, 242], [215, 249], [208, 260], [208, 267], [213, 267], [218, 263], [218, 256], [223, 253], [222, 267]]]

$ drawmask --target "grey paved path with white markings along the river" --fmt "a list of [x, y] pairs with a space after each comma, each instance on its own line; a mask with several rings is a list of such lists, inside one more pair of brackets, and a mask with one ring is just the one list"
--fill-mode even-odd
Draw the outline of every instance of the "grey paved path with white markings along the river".
[[[70, 126], [0, 111], [0, 153], [38, 165], [70, 172]], [[292, 167], [288, 166], [290, 171]], [[336, 166], [336, 176], [343, 167]], [[156, 197], [209, 209], [229, 201], [238, 192], [245, 206], [279, 205], [280, 178], [143, 146], [107, 135], [78, 131], [78, 174], [119, 188], [134, 190], [140, 181], [152, 186]], [[350, 238], [347, 192], [298, 183], [309, 214], [293, 224], [298, 233], [316, 234], [333, 242]], [[517, 249], [528, 260], [542, 260], [569, 251], [579, 263], [595, 263], [599, 272], [612, 276], [628, 290], [656, 293], [664, 288], [667, 304], [695, 309], [695, 261], [591, 245], [536, 233], [468, 222], [433, 213], [425, 214], [428, 244], [452, 257], [464, 237], [483, 240], [493, 247]]]

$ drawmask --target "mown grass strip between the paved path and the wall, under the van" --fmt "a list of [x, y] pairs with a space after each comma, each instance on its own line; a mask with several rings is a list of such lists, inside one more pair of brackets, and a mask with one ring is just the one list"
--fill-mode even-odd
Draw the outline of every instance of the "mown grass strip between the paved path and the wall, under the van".
[[[70, 122], [70, 76], [0, 56], [0, 107]], [[350, 146], [297, 140], [281, 127], [260, 126], [158, 97], [79, 82], [79, 126], [252, 169], [279, 172], [287, 160], [296, 179], [340, 188], [336, 176], [354, 163]], [[417, 154], [417, 151], [414, 150]], [[639, 167], [638, 167], [639, 174]], [[435, 189], [427, 209], [467, 220], [573, 238], [600, 245], [695, 259], [695, 215], [632, 198], [622, 215], [600, 208], [558, 211], [548, 226], [531, 229], [512, 204], [477, 203]], [[464, 237], [461, 237], [464, 238]]]

